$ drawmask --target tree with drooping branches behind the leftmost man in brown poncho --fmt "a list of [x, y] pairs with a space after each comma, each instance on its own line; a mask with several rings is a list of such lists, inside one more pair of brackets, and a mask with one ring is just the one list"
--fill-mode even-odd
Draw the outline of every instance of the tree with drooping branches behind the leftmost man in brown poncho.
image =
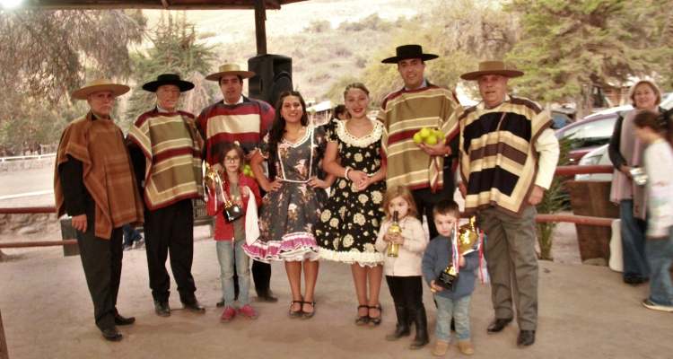
[[10, 153], [25, 144], [58, 141], [67, 121], [83, 114], [69, 92], [84, 79], [124, 78], [127, 46], [144, 31], [139, 11], [0, 13], [0, 143]]

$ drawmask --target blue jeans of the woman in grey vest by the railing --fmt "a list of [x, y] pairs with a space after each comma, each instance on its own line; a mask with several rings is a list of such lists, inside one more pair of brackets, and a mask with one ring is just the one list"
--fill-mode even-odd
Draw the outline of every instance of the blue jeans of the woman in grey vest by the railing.
[[619, 218], [622, 220], [622, 253], [624, 276], [650, 277], [650, 268], [645, 258], [645, 221], [634, 217], [634, 201], [619, 202]]

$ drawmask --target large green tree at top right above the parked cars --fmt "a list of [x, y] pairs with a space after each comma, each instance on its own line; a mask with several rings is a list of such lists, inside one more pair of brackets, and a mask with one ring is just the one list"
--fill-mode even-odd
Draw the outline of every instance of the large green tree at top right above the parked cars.
[[673, 0], [512, 0], [506, 8], [521, 17], [508, 59], [525, 72], [512, 82], [525, 96], [574, 101], [585, 113], [594, 85], [670, 82]]

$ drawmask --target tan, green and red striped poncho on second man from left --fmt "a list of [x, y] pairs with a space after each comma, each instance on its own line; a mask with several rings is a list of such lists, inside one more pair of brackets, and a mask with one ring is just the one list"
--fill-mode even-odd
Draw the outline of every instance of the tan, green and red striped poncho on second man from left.
[[135, 121], [127, 139], [145, 156], [144, 201], [150, 210], [202, 196], [203, 141], [194, 115], [153, 109]]

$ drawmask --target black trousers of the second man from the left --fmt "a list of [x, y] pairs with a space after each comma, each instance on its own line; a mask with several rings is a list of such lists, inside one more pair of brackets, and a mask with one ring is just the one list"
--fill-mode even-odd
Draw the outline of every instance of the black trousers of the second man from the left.
[[192, 276], [194, 258], [194, 216], [191, 199], [144, 214], [144, 243], [150, 288], [155, 301], [169, 299], [170, 276], [166, 271], [166, 258], [170, 253], [170, 269], [181, 302], [196, 300], [197, 286]]

